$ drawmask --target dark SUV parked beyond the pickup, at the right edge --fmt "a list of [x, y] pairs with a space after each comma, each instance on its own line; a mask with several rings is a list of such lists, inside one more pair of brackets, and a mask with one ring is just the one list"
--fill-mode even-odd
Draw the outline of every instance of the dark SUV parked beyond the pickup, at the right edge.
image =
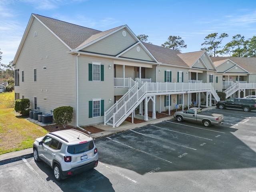
[[250, 110], [256, 110], [256, 100], [247, 98], [230, 98], [225, 101], [218, 101], [216, 106], [219, 109], [235, 108], [248, 112]]

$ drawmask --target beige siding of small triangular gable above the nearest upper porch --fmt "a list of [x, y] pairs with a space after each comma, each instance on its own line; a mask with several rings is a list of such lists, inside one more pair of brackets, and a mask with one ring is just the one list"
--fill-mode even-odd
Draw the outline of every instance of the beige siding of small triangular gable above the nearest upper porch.
[[148, 55], [148, 53], [140, 45], [137, 45], [131, 48], [124, 54], [120, 55], [120, 57], [133, 58], [133, 59], [139, 59], [139, 60], [145, 60], [145, 61], [153, 61], [153, 59]]

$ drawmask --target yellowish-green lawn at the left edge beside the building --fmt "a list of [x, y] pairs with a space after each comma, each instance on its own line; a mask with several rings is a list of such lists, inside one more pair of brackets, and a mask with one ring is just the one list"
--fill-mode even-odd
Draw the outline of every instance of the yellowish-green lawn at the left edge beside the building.
[[0, 93], [0, 154], [31, 148], [46, 133], [14, 111], [14, 92]]

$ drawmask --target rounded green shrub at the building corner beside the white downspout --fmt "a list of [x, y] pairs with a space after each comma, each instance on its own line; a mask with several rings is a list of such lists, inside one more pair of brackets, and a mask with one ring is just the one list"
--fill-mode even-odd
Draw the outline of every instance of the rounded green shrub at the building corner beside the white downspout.
[[72, 121], [73, 108], [71, 106], [62, 106], [54, 109], [54, 123], [62, 124], [64, 128]]

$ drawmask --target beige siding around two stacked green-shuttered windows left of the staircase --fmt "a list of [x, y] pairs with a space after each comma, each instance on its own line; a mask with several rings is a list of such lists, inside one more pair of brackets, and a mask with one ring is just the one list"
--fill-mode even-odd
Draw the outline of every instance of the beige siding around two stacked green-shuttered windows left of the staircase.
[[[104, 81], [89, 81], [88, 64], [92, 62], [104, 65]], [[113, 60], [81, 55], [78, 57], [78, 119], [81, 126], [104, 122], [104, 116], [89, 118], [89, 101], [104, 100], [104, 111], [114, 104], [114, 68], [109, 69], [109, 65], [114, 66]]]

